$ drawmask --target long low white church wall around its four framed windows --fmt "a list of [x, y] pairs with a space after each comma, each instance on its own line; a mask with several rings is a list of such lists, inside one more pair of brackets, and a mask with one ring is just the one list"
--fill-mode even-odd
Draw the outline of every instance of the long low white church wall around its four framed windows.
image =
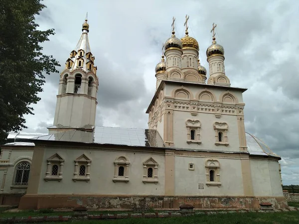
[[[58, 181], [45, 181], [47, 159], [58, 153], [65, 161], [63, 166], [63, 179]], [[91, 159], [90, 181], [72, 180], [74, 176], [74, 160], [85, 154]], [[114, 183], [114, 161], [119, 156], [126, 156], [130, 161], [128, 183]], [[158, 163], [158, 183], [143, 183], [144, 164], [152, 157]], [[78, 150], [78, 149], [51, 149], [47, 148], [43, 157], [44, 163], [38, 194], [92, 194], [92, 195], [163, 195], [164, 194], [164, 156], [148, 153]]]

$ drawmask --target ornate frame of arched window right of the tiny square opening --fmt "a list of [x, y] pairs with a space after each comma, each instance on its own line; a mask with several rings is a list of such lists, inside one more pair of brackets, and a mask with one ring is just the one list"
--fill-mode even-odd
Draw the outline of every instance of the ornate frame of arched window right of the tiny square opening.
[[[206, 159], [205, 161], [206, 168], [206, 185], [210, 186], [221, 186], [220, 182], [220, 163], [217, 159]], [[214, 171], [214, 181], [210, 181], [210, 171]]]

